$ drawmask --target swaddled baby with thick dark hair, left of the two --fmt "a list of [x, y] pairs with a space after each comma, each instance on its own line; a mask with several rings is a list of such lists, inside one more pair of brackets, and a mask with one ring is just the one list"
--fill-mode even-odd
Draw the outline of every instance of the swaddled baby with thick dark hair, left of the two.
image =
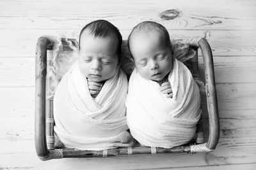
[[67, 148], [105, 150], [131, 146], [125, 98], [128, 82], [119, 68], [122, 36], [106, 20], [86, 25], [78, 62], [54, 94], [54, 132]]

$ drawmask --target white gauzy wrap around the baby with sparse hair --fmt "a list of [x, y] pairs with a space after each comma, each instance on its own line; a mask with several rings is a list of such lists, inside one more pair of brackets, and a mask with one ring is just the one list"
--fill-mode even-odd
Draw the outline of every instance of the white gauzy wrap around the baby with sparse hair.
[[200, 118], [200, 92], [189, 69], [173, 61], [168, 75], [173, 97], [160, 92], [157, 82], [145, 80], [134, 69], [127, 95], [127, 125], [144, 146], [173, 148], [195, 136]]

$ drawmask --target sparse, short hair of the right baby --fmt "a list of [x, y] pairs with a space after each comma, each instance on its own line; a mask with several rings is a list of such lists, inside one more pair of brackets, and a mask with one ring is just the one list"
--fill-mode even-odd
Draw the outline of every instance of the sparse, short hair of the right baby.
[[[132, 29], [132, 32], [131, 32], [131, 34], [129, 34], [128, 41], [127, 41], [129, 50], [130, 50], [130, 41], [134, 35], [136, 35], [138, 33], [140, 34], [141, 32], [147, 33], [147, 32], [154, 31], [154, 30], [157, 30], [157, 31], [160, 31], [161, 33], [163, 33], [163, 37], [166, 41], [166, 45], [170, 46], [170, 49], [172, 51], [172, 43], [171, 43], [170, 36], [169, 36], [167, 29], [163, 25], [158, 24], [157, 22], [152, 22], [152, 21], [141, 22], [140, 24], [136, 25]], [[131, 50], [130, 50], [130, 52], [131, 52]]]

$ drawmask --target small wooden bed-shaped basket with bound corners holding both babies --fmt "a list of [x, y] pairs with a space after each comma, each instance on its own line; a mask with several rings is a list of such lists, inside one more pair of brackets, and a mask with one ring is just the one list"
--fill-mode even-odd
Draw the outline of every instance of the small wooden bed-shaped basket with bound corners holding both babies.
[[[77, 48], [76, 39], [60, 40], [60, 48], [63, 51], [71, 52], [70, 44]], [[205, 82], [203, 89], [200, 92], [201, 97], [206, 96], [207, 112], [209, 115], [209, 137], [204, 139], [202, 118], [197, 124], [195, 139], [190, 144], [184, 146], [177, 146], [171, 149], [154, 148], [146, 146], [116, 148], [102, 151], [86, 151], [76, 149], [55, 149], [54, 148], [54, 118], [53, 118], [53, 96], [55, 85], [52, 85], [56, 80], [56, 74], [53, 74], [54, 59], [52, 58], [52, 50], [57, 41], [51, 36], [42, 36], [38, 38], [36, 44], [36, 64], [35, 64], [35, 148], [36, 153], [41, 160], [61, 159], [65, 157], [109, 157], [117, 155], [136, 155], [136, 154], [157, 154], [157, 153], [196, 153], [196, 152], [211, 152], [218, 143], [220, 125], [218, 118], [218, 105], [216, 96], [216, 87], [214, 80], [214, 67], [212, 60], [212, 52], [209, 43], [204, 38], [189, 38], [183, 39], [182, 42], [189, 46], [196, 55], [193, 58], [186, 60], [184, 64], [189, 68], [195, 80], [200, 80], [198, 69], [198, 48], [202, 50], [204, 59]], [[129, 58], [129, 51], [127, 50], [126, 41], [124, 41], [123, 56], [124, 59]], [[74, 62], [74, 59], [70, 59]], [[122, 66], [126, 69], [126, 73], [131, 73], [132, 63], [129, 60], [122, 60]], [[67, 71], [67, 70], [66, 70]], [[55, 76], [55, 77], [54, 77]], [[59, 75], [60, 76], [60, 75]], [[58, 79], [58, 78], [57, 78]], [[59, 77], [60, 79], [60, 77]], [[54, 87], [55, 86], [55, 87]], [[205, 113], [203, 113], [205, 114]]]

